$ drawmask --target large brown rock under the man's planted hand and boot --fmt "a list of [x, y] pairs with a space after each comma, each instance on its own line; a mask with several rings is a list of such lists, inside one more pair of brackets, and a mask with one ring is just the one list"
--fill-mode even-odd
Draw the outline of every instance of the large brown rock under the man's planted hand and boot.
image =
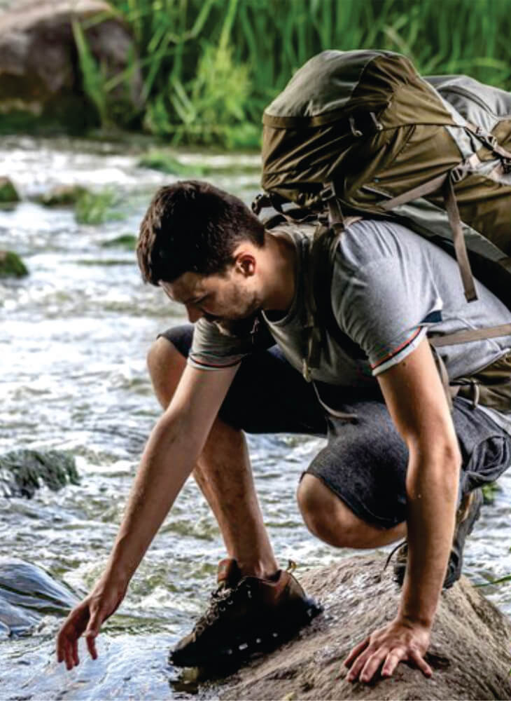
[[427, 660], [433, 677], [400, 664], [390, 679], [346, 681], [342, 664], [397, 611], [400, 592], [384, 557], [343, 559], [300, 578], [325, 613], [300, 637], [237, 672], [221, 699], [509, 699], [511, 622], [467, 579], [442, 593]]

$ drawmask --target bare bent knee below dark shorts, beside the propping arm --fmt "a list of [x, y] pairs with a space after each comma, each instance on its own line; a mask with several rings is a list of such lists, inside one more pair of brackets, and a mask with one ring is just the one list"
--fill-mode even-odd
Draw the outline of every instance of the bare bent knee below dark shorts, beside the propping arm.
[[379, 529], [359, 519], [314, 475], [304, 475], [297, 492], [298, 505], [311, 533], [335, 547], [370, 548], [406, 537], [406, 524]]

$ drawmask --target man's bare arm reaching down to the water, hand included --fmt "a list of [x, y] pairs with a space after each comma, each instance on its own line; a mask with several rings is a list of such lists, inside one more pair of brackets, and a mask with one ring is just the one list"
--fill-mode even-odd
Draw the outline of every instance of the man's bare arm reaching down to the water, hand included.
[[78, 638], [85, 632], [92, 658], [99, 629], [125, 596], [134, 571], [192, 472], [237, 367], [204, 371], [187, 366], [176, 393], [153, 428], [141, 458], [106, 569], [92, 592], [66, 618], [57, 658], [78, 665]]

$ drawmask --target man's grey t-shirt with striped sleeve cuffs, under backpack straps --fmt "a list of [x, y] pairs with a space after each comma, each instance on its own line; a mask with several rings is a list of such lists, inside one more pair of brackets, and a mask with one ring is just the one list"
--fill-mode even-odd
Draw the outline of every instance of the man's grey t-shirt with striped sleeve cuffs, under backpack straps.
[[[304, 227], [286, 227], [297, 248], [295, 297], [285, 315], [262, 313], [286, 358], [302, 369], [304, 288], [302, 265], [310, 245]], [[305, 247], [305, 248], [304, 248]], [[403, 360], [426, 333], [450, 334], [511, 321], [510, 312], [481, 283], [477, 301], [467, 303], [456, 261], [437, 245], [395, 222], [364, 219], [349, 226], [337, 247], [332, 275], [332, 310], [339, 329], [360, 347], [356, 357], [325, 334], [312, 379], [338, 386], [368, 386]], [[511, 336], [440, 348], [449, 378], [467, 376], [511, 350]], [[241, 362], [253, 351], [251, 334], [226, 336], [211, 322], [195, 325], [188, 362], [218, 369]], [[511, 431], [511, 421], [490, 411]], [[511, 407], [510, 407], [511, 412]], [[507, 423], [506, 423], [507, 422]]]

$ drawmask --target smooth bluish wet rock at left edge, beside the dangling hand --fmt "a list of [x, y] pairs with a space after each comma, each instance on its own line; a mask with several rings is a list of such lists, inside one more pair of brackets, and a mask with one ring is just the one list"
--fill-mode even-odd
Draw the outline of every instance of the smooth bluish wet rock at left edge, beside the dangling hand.
[[0, 628], [26, 633], [43, 615], [66, 615], [78, 597], [42, 567], [0, 558]]

